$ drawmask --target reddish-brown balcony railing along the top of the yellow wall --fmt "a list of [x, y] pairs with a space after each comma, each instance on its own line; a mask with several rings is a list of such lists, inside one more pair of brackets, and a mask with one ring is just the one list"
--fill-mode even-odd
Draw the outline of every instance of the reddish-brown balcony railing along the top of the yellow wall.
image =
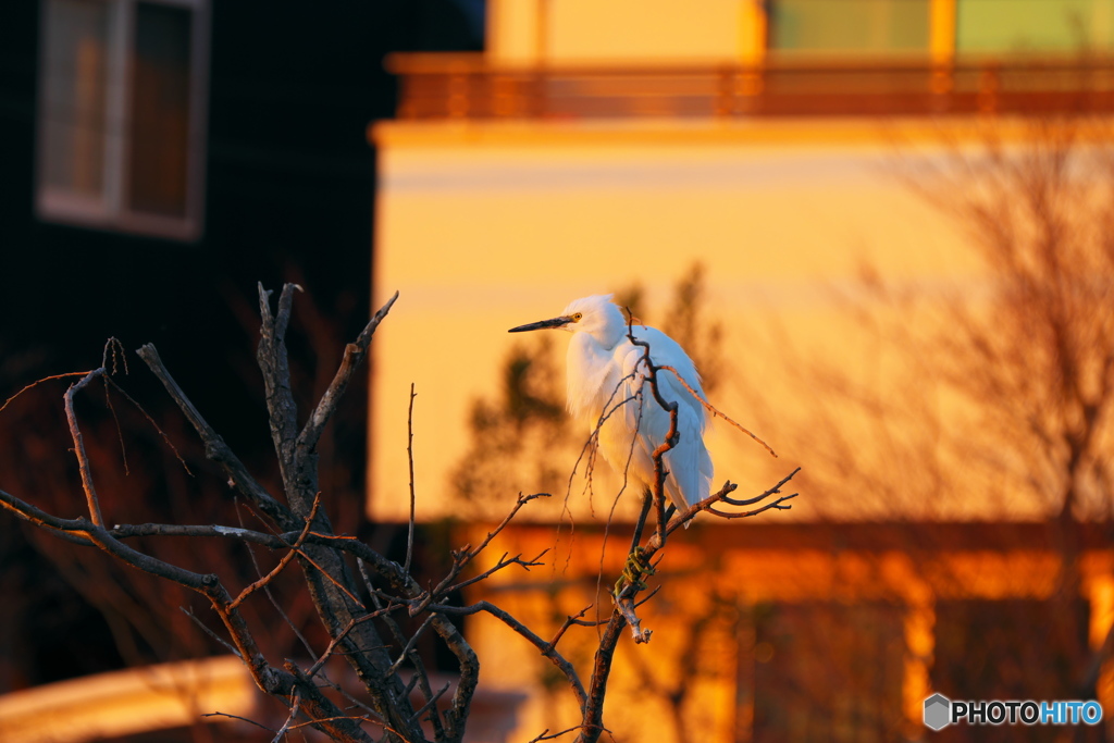
[[411, 53], [387, 63], [402, 119], [1114, 111], [1114, 59], [496, 67], [482, 55]]

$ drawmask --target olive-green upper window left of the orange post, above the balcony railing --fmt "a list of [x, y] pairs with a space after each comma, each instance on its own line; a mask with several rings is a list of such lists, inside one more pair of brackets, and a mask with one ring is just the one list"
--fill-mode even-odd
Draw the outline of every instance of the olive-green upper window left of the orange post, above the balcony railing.
[[783, 56], [927, 53], [929, 0], [771, 0], [770, 50]]

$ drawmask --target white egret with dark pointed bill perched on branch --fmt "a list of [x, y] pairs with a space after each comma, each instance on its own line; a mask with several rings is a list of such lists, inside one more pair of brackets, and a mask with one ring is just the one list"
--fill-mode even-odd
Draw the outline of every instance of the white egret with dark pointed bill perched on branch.
[[[653, 492], [653, 453], [668, 434], [670, 413], [651, 391], [646, 350], [631, 342], [623, 313], [610, 300], [610, 294], [575, 300], [557, 317], [511, 327], [509, 332], [551, 327], [573, 333], [567, 358], [569, 412], [586, 422], [589, 431], [598, 427], [599, 450], [615, 470]], [[706, 498], [712, 483], [712, 458], [704, 446], [707, 416], [702, 401], [693, 397], [695, 392], [704, 398], [700, 374], [681, 345], [662, 331], [645, 325], [633, 325], [631, 331], [649, 345], [655, 366], [672, 366], [692, 390], [686, 390], [668, 370], [657, 374], [662, 398], [677, 403], [680, 433], [676, 446], [663, 458], [668, 472], [665, 492], [677, 509], [684, 510]], [[643, 519], [648, 505], [647, 493]], [[641, 526], [642, 519], [636, 540]]]

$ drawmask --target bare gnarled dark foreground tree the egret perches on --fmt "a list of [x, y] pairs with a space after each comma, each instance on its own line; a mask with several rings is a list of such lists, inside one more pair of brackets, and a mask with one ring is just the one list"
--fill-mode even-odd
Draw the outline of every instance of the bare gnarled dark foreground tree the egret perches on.
[[[715, 496], [694, 504], [674, 516], [673, 507], [668, 510], [664, 508], [662, 495], [666, 475], [662, 466], [662, 456], [677, 440], [676, 403], [673, 403], [670, 436], [654, 452], [658, 529], [646, 545], [639, 548], [642, 561], [631, 568], [629, 573], [624, 573], [623, 579], [626, 583], [622, 590], [617, 592], [615, 607], [606, 620], [585, 619], [588, 610], [585, 608], [577, 615], [567, 616], [551, 639], [546, 641], [506, 609], [490, 602], [481, 600], [466, 606], [453, 604], [457, 602], [456, 596], [461, 592], [481, 585], [498, 573], [514, 567], [530, 570], [544, 564], [543, 559], [549, 553], [548, 549], [532, 558], [504, 551], [487, 567], [475, 567], [477, 558], [491, 548], [521, 509], [534, 500], [548, 497], [548, 493], [519, 493], [506, 517], [485, 535], [478, 546], [465, 545], [451, 551], [451, 563], [443, 575], [436, 580], [429, 580], [427, 587], [411, 575], [416, 561], [413, 535], [417, 526], [413, 477], [411, 477], [411, 515], [408, 524], [407, 553], [402, 565], [388, 559], [356, 538], [334, 532], [328, 512], [328, 492], [323, 493], [319, 488], [316, 447], [325, 427], [333, 419], [359, 362], [368, 353], [372, 334], [385, 319], [398, 294], [374, 314], [356, 340], [345, 346], [332, 381], [312, 405], [307, 420], [299, 431], [299, 413], [285, 341], [296, 291], [299, 287], [294, 284], [283, 286], [272, 312], [271, 292], [265, 291], [262, 285], [258, 286], [261, 334], [256, 361], [263, 374], [270, 436], [282, 476], [282, 491], [277, 495], [272, 495], [258, 483], [206, 422], [169, 374], [155, 346], [147, 344], [137, 351], [204, 444], [205, 456], [221, 468], [231, 485], [246, 498], [246, 507], [258, 514], [260, 527], [244, 526], [243, 519], [238, 516], [238, 504], [237, 519], [234, 521], [238, 522], [238, 526], [225, 526], [219, 522], [156, 521], [109, 526], [105, 521], [100, 510], [100, 495], [95, 487], [96, 472], [89, 452], [86, 451], [86, 441], [75, 411], [74, 398], [90, 381], [98, 378], [108, 379], [109, 361], [113, 362], [114, 369], [118, 362], [118, 349], [114, 344], [106, 346], [104, 365], [91, 372], [82, 372], [80, 380], [72, 384], [65, 395], [66, 418], [74, 441], [74, 451], [78, 458], [79, 478], [86, 496], [88, 517], [60, 518], [3, 490], [0, 490], [0, 508], [52, 536], [76, 545], [96, 547], [120, 565], [130, 566], [166, 581], [167, 585], [180, 586], [203, 596], [219, 619], [219, 626], [215, 623], [212, 627], [208, 626], [186, 606], [183, 607], [183, 612], [205, 635], [242, 659], [260, 690], [282, 702], [286, 716], [281, 727], [272, 731], [275, 740], [286, 737], [292, 731], [310, 725], [335, 741], [367, 743], [373, 740], [369, 729], [377, 726], [382, 731], [384, 740], [394, 743], [421, 743], [427, 741], [427, 735], [430, 733], [437, 743], [462, 743], [479, 681], [480, 659], [451, 619], [486, 613], [526, 639], [541, 657], [558, 669], [580, 710], [580, 725], [555, 734], [546, 731], [536, 741], [553, 740], [575, 731], [579, 731], [583, 741], [596, 741], [600, 732], [605, 731], [603, 702], [615, 648], [623, 629], [632, 626], [635, 629], [636, 642], [645, 642], [649, 637], [649, 630], [639, 627], [636, 610], [659, 588], [655, 587], [643, 594], [646, 589], [643, 577], [653, 573], [656, 564], [655, 555], [664, 547], [668, 534], [701, 510], [721, 515], [713, 509], [713, 506], [725, 505], [737, 508], [758, 506], [766, 498], [779, 493], [779, 488], [784, 486], [792, 475], [766, 493], [752, 499], [731, 498], [730, 493], [735, 486], [727, 483]], [[646, 352], [647, 379], [655, 402], [664, 404], [656, 390], [656, 373], [659, 368], [651, 363], [648, 348]], [[113, 394], [119, 392], [133, 401], [130, 395], [115, 382], [106, 385], [107, 392]], [[411, 476], [413, 398], [414, 392], [411, 390], [411, 408], [408, 416]], [[109, 405], [117, 422], [123, 446], [123, 428], [120, 419], [116, 418], [116, 408], [113, 407], [111, 399], [106, 404]], [[150, 416], [146, 412], [144, 416], [155, 424]], [[173, 447], [169, 437], [159, 426], [155, 424], [155, 428], [165, 444], [174, 450], [174, 456], [183, 461], [182, 454]], [[729, 517], [749, 516], [766, 508], [788, 508], [783, 502], [792, 496], [782, 496], [776, 501], [766, 502], [752, 511], [731, 514]], [[164, 559], [162, 551], [146, 551], [152, 545], [165, 544], [166, 540], [175, 538], [190, 540], [190, 545], [216, 544], [211, 540], [244, 545], [255, 568], [255, 579], [238, 592], [229, 592], [221, 573], [216, 571], [224, 571], [229, 566], [218, 564], [213, 573], [197, 571], [183, 567], [183, 565], [194, 566], [194, 561], [178, 564], [175, 560]], [[272, 561], [268, 569], [262, 569], [260, 561], [256, 561], [255, 550], [260, 547], [278, 553], [277, 559]], [[295, 561], [301, 567], [302, 606], [305, 607], [307, 615], [315, 613], [315, 620], [324, 628], [324, 637], [319, 638], [313, 633], [303, 633], [299, 623], [292, 619], [286, 607], [278, 600], [278, 596], [285, 593], [293, 580], [287, 568]], [[205, 565], [205, 561], [201, 564]], [[359, 569], [359, 577], [353, 570], [353, 565]], [[229, 579], [242, 580], [238, 573], [233, 571], [232, 575], [235, 577]], [[358, 583], [361, 579], [362, 585]], [[281, 586], [282, 589], [275, 589], [276, 586]], [[253, 625], [253, 619], [260, 618], [256, 614], [260, 605], [265, 606], [265, 603], [248, 600], [260, 592], [267, 596], [271, 608], [290, 625], [309, 653], [312, 663], [307, 666], [293, 661], [272, 663], [266, 657], [258, 642], [262, 635], [256, 634], [260, 628]], [[272, 615], [264, 616], [268, 619], [274, 618]], [[573, 627], [599, 626], [603, 626], [604, 630], [592, 667], [592, 676], [586, 685], [578, 669], [558, 649], [558, 644]], [[381, 635], [383, 628], [385, 634]], [[459, 667], [455, 683], [434, 688], [427, 668], [428, 658], [423, 659], [423, 654], [427, 652], [423, 646], [437, 643], [443, 643], [456, 657]], [[353, 693], [351, 687], [329, 680], [326, 674], [331, 674], [333, 666], [342, 662], [355, 672], [362, 692]], [[409, 680], [404, 680], [401, 675], [405, 667], [413, 669]], [[444, 702], [450, 690], [451, 700]], [[428, 725], [423, 726], [423, 723]]]

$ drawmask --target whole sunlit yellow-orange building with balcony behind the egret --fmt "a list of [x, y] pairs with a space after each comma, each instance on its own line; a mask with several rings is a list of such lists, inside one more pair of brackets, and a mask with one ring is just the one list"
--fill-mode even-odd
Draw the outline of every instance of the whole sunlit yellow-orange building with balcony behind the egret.
[[[944, 497], [947, 478], [918, 482], [916, 465], [887, 460], [896, 449], [869, 421], [829, 399], [837, 395], [802, 388], [792, 372], [819, 360], [877, 391], [883, 411], [903, 394], [927, 400], [939, 414], [934, 420], [965, 430], [961, 404], [920, 385], [916, 370], [899, 365], [861, 322], [880, 311], [863, 291], [861, 270], [869, 265], [877, 283], [911, 299], [886, 317], [896, 324], [940, 330], [938, 319], [915, 310], [941, 290], [977, 306], [986, 267], [969, 235], [917, 189], [929, 185], [922, 166], [940, 165], [975, 140], [969, 133], [996, 108], [999, 66], [1017, 72], [1010, 95], [1018, 108], [1045, 100], [1032, 95], [1048, 92], [1042, 86], [1059, 89], [1066, 78], [1055, 65], [1053, 82], [1026, 88], [1033, 71], [1025, 63], [1064, 65], [1078, 52], [1073, 13], [1105, 70], [1108, 8], [1106, 0], [1012, 3], [1008, 12], [994, 0], [772, 0], [712, 3], [706, 14], [671, 26], [631, 6], [605, 12], [573, 0], [492, 2], [487, 56], [416, 61], [404, 90], [420, 105], [402, 109], [414, 120], [372, 131], [382, 154], [374, 292], [380, 302], [401, 292], [375, 339], [372, 518], [407, 517], [411, 383], [419, 520], [497, 519], [519, 491], [537, 489], [536, 477], [508, 463], [502, 489], [482, 504], [459, 499], [453, 478], [468, 466], [472, 402], [498, 399], [502, 365], [519, 342], [506, 329], [632, 284], [646, 290], [643, 319], [659, 324], [672, 285], [698, 262], [706, 316], [723, 322], [730, 370], [712, 402], [744, 424], [761, 420], [758, 433], [781, 453], [770, 460], [717, 426], [710, 437], [716, 481], [761, 491], [795, 463], [821, 459], [786, 451], [781, 419], [811, 427], [813, 442], [838, 429], [882, 476], [878, 488], [862, 488], [871, 492], [840, 496], [801, 485], [807, 470], [792, 511], [763, 514], [753, 528], [697, 519], [671, 542], [658, 575], [665, 588], [645, 605], [644, 619], [657, 632], [649, 646], [620, 645], [606, 720], [632, 740], [684, 740], [673, 727], [672, 697], [682, 700], [681, 717], [698, 740], [901, 740], [922, 735], [920, 705], [931, 691], [985, 698], [1076, 693], [1078, 666], [1071, 664], [1092, 657], [1111, 625], [1108, 550], [1073, 555], [1064, 542], [1024, 537], [991, 544], [1017, 526], [991, 519], [1047, 512], [1019, 502], [1008, 485], [968, 479], [964, 461], [935, 459], [929, 442], [926, 467], [965, 475], [948, 493], [958, 498]], [[657, 9], [670, 18], [676, 7]], [[706, 43], [694, 41], [700, 23], [714, 27]], [[616, 29], [632, 38], [619, 39]], [[686, 65], [703, 78], [677, 82]], [[623, 66], [635, 74], [616, 74]], [[836, 82], [825, 77], [832, 70], [841, 74]], [[916, 105], [902, 108], [912, 78], [895, 70], [917, 77]], [[961, 105], [951, 96], [960, 82]], [[715, 102], [723, 86], [726, 106]], [[1061, 92], [1067, 89], [1081, 92], [1071, 85]], [[841, 108], [840, 95], [864, 91], [880, 115], [833, 115], [851, 110]], [[554, 104], [563, 95], [579, 96], [577, 105]], [[609, 106], [608, 96], [623, 96], [623, 105]], [[690, 106], [696, 96], [712, 102]], [[762, 101], [776, 96], [785, 104], [778, 110], [797, 118], [760, 118], [774, 110]], [[1056, 106], [1066, 100], [1044, 110], [1063, 113]], [[925, 117], [897, 117], [911, 110]], [[927, 116], [955, 110], [973, 116]], [[1007, 140], [1016, 134], [1012, 123], [996, 124]], [[556, 335], [559, 356], [565, 339]], [[900, 392], [896, 381], [905, 382]], [[579, 468], [575, 452], [543, 446], [535, 456], [566, 472]], [[829, 482], [854, 466], [834, 457], [829, 463]], [[497, 602], [541, 636], [586, 607], [606, 614], [626, 554], [620, 532], [637, 505], [620, 481], [598, 471], [589, 493], [577, 472], [551, 505], [531, 502], [492, 545], [496, 554], [553, 548], [547, 565], [528, 576], [501, 574], [468, 597]], [[966, 542], [926, 539], [934, 526], [961, 530], [939, 519], [975, 517], [987, 520], [962, 525], [977, 531]], [[870, 518], [877, 521], [862, 524]], [[524, 525], [531, 519], [536, 527]], [[766, 525], [788, 524], [831, 540], [760, 537]], [[856, 527], [888, 537], [852, 545]], [[461, 541], [475, 544], [485, 531]], [[481, 683], [530, 690], [520, 736], [577, 722], [563, 683], [525, 642], [483, 615], [467, 629], [488, 658]], [[592, 630], [563, 643], [586, 668]], [[698, 662], [686, 667], [692, 657]], [[1104, 702], [1110, 682], [1107, 666], [1097, 690]]]

